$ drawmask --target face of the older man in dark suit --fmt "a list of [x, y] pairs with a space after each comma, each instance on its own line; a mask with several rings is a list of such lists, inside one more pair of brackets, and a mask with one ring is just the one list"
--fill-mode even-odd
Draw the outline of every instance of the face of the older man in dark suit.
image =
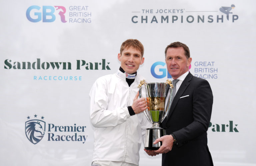
[[167, 70], [173, 79], [177, 79], [186, 73], [191, 61], [192, 58], [187, 59], [183, 47], [167, 49], [165, 62]]

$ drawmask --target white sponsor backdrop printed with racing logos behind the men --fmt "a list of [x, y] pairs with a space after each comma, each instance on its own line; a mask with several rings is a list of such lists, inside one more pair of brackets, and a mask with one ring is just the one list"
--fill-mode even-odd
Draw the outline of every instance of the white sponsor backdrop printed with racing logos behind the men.
[[[0, 4], [1, 165], [89, 166], [94, 139], [90, 88], [98, 77], [117, 71], [120, 45], [133, 38], [145, 48], [138, 72], [152, 82], [167, 79], [161, 65], [165, 47], [187, 44], [190, 72], [207, 79], [214, 95], [208, 129], [214, 165], [256, 166], [255, 1]], [[232, 4], [227, 19], [220, 8]], [[29, 122], [40, 122], [44, 135], [39, 142], [29, 140]], [[140, 165], [161, 165], [161, 155], [141, 150]]]

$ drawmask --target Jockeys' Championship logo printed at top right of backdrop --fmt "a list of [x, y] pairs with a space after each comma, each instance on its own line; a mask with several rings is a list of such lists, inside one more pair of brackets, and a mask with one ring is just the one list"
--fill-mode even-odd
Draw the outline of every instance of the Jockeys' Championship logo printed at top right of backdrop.
[[[162, 8], [162, 9], [141, 9], [138, 11], [132, 11], [131, 17], [132, 23], [144, 24], [144, 23], [223, 23], [229, 21], [229, 14], [231, 9], [234, 9], [235, 5], [231, 7], [221, 7], [220, 12], [226, 14], [227, 20], [223, 15], [219, 15], [216, 9], [207, 11], [191, 10], [185, 8]], [[136, 14], [134, 14], [136, 13]], [[208, 14], [210, 13], [210, 14]], [[216, 13], [216, 14], [215, 14]], [[222, 14], [221, 13], [221, 14]], [[232, 22], [238, 20], [238, 15], [232, 15]]]

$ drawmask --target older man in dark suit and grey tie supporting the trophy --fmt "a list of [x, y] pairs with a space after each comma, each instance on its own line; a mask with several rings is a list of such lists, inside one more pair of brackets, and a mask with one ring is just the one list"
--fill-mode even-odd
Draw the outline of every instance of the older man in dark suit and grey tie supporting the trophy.
[[145, 150], [154, 156], [162, 153], [162, 166], [213, 166], [207, 146], [213, 95], [208, 81], [194, 77], [188, 70], [192, 58], [189, 48], [174, 42], [165, 49], [167, 70], [176, 83], [168, 116], [162, 122], [167, 135], [156, 151]]

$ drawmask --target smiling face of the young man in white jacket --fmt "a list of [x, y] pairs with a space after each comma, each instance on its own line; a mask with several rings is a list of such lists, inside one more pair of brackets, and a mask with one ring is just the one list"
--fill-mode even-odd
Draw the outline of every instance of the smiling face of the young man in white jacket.
[[141, 52], [133, 47], [125, 48], [122, 55], [118, 54], [118, 60], [121, 62], [121, 67], [128, 74], [135, 73], [140, 65], [144, 62]]

